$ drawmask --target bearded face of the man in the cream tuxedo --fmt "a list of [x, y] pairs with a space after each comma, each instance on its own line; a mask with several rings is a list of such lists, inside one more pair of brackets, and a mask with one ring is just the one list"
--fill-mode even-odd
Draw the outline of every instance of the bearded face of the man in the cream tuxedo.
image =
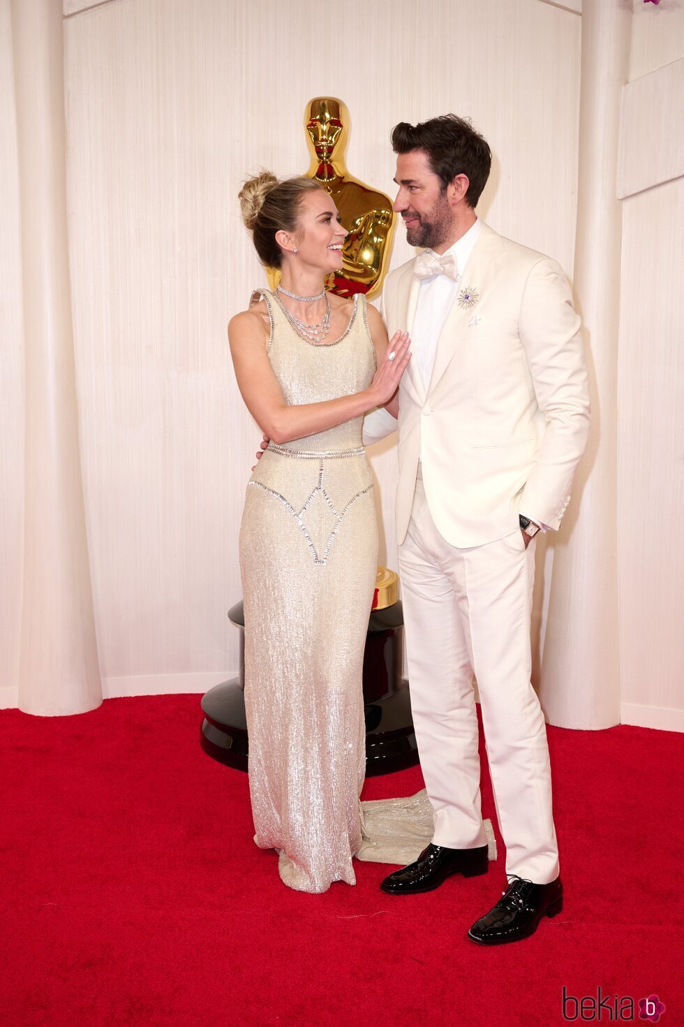
[[397, 155], [395, 182], [399, 192], [394, 210], [404, 219], [408, 244], [435, 249], [445, 242], [451, 232], [453, 212], [425, 150]]

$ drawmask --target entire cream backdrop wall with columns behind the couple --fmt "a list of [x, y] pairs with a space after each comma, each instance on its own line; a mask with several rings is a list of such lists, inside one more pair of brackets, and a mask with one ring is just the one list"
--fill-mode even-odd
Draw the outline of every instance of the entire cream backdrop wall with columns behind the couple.
[[[640, 0], [584, 0], [582, 13], [579, 0], [348, 0], [341, 32], [339, 9], [317, 0], [58, 8], [0, 0], [0, 702], [16, 705], [21, 688], [36, 713], [91, 708], [97, 662], [105, 696], [201, 692], [236, 673], [226, 612], [241, 595], [237, 533], [258, 431], [226, 325], [265, 276], [235, 196], [260, 166], [307, 167], [305, 106], [328, 93], [350, 108], [351, 172], [389, 194], [394, 123], [470, 115], [494, 152], [479, 213], [556, 257], [573, 281], [595, 421], [563, 530], [538, 545], [536, 684], [551, 722], [565, 726], [616, 723], [620, 676], [636, 722], [647, 717], [639, 711], [652, 708], [654, 724], [663, 709], [681, 711], [673, 561], [650, 545], [632, 574], [626, 526], [636, 522], [625, 515], [638, 486], [638, 424], [625, 401], [639, 366], [630, 326], [641, 316], [626, 283], [636, 293], [635, 253], [650, 245], [644, 218], [665, 231], [681, 192], [660, 178], [625, 186], [618, 201], [615, 185], [620, 160], [648, 172], [619, 157], [620, 107], [645, 102], [639, 76], [677, 81], [681, 11]], [[638, 132], [638, 116], [628, 120]], [[653, 152], [670, 161], [662, 176], [682, 175], [671, 146]], [[630, 192], [640, 189], [648, 199]], [[410, 256], [399, 226], [392, 266]], [[668, 303], [661, 345], [675, 353]], [[618, 334], [631, 354], [623, 370]], [[676, 375], [675, 356], [669, 367]], [[652, 416], [655, 380], [648, 403]], [[371, 459], [383, 557], [396, 567], [396, 453], [386, 444]], [[661, 481], [676, 460], [666, 438], [653, 461]], [[661, 504], [666, 531], [677, 500], [671, 489]], [[670, 606], [637, 651], [640, 592], [658, 600], [653, 565]]]

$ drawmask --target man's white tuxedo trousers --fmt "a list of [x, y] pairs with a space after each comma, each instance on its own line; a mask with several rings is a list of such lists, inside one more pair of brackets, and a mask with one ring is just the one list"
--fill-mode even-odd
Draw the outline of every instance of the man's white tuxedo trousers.
[[399, 568], [433, 840], [448, 848], [487, 843], [475, 673], [507, 873], [548, 884], [559, 865], [547, 731], [530, 683], [534, 541], [525, 550], [518, 530], [487, 545], [450, 545], [435, 527], [418, 476]]

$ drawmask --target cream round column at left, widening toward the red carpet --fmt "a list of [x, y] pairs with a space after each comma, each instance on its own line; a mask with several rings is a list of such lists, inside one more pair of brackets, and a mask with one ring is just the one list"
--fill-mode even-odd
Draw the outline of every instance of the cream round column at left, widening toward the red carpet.
[[85, 534], [67, 241], [58, 0], [12, 0], [24, 298], [24, 566], [18, 706], [102, 702]]

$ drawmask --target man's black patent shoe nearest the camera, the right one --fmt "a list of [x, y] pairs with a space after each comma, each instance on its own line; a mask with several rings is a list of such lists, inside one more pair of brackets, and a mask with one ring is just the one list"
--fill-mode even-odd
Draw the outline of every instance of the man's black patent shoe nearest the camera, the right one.
[[560, 877], [551, 884], [534, 884], [511, 875], [509, 886], [493, 909], [474, 923], [468, 937], [478, 945], [506, 945], [529, 938], [544, 916], [556, 916], [563, 909]]

